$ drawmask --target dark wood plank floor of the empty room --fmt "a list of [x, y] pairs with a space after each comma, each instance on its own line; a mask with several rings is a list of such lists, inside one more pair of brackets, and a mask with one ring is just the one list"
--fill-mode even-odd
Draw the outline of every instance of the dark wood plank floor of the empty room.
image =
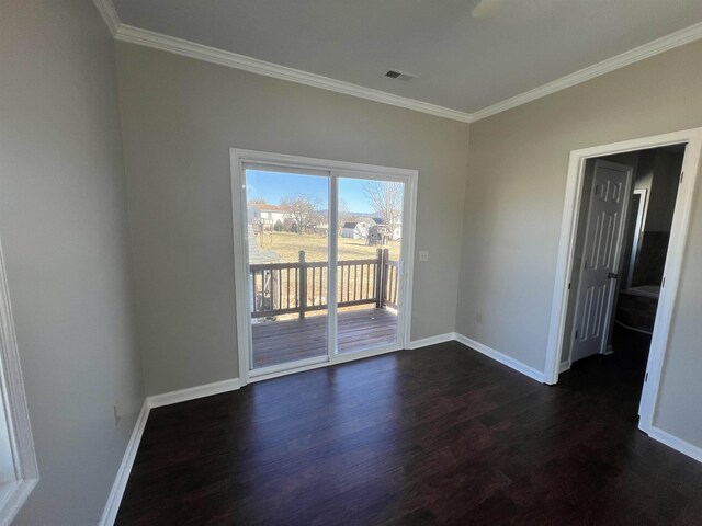
[[699, 525], [624, 355], [547, 387], [452, 342], [155, 409], [117, 524]]

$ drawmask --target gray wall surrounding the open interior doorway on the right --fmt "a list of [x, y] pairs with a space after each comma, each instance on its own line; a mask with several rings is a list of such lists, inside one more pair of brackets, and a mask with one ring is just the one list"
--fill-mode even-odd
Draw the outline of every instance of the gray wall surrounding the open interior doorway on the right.
[[[458, 332], [544, 369], [570, 150], [702, 126], [701, 65], [697, 42], [471, 125]], [[701, 206], [698, 188], [655, 416], [697, 446]]]

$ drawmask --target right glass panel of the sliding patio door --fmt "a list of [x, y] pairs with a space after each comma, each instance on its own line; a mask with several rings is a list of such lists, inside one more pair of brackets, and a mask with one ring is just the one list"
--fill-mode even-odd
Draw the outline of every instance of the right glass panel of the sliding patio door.
[[398, 341], [405, 183], [338, 179], [337, 352]]

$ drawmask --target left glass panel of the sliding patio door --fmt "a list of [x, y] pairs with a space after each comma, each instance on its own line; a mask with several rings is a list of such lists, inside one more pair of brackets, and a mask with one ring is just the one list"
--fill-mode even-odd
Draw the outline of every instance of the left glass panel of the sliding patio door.
[[328, 359], [329, 176], [246, 169], [252, 370]]

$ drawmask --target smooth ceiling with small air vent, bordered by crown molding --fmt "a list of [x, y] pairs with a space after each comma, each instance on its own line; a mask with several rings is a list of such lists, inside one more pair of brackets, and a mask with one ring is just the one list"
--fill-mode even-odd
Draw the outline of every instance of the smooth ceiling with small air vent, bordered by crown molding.
[[127, 25], [466, 113], [702, 22], [700, 0], [506, 0], [483, 20], [477, 3], [114, 0]]

